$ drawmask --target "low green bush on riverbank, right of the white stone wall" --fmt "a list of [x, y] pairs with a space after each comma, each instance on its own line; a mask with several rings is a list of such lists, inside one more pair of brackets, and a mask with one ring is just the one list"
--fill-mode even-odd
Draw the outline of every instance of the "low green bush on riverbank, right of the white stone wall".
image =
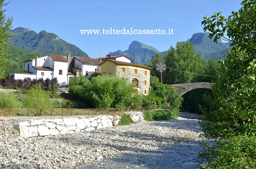
[[177, 118], [179, 116], [179, 111], [177, 110], [153, 110], [153, 111], [144, 111], [144, 120], [148, 121], [162, 121], [162, 120], [170, 120], [173, 118]]

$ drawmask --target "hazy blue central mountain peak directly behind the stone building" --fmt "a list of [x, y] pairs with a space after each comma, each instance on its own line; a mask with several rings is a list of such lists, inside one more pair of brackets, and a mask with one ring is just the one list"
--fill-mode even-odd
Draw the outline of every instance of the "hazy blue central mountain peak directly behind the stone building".
[[121, 55], [124, 54], [134, 60], [134, 53], [136, 53], [136, 64], [142, 64], [151, 61], [152, 55], [156, 55], [157, 52], [160, 52], [156, 48], [146, 45], [138, 41], [132, 41], [129, 45], [129, 48], [125, 51], [117, 50], [116, 52], [110, 52], [109, 55]]

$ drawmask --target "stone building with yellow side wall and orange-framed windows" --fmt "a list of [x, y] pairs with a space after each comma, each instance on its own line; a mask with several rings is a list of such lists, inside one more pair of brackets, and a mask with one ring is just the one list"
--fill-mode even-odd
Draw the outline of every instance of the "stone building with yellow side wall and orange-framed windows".
[[110, 59], [106, 59], [99, 64], [99, 66], [101, 72], [109, 73], [123, 80], [127, 80], [128, 83], [136, 85], [135, 89], [137, 89], [139, 93], [145, 95], [148, 94], [150, 86], [150, 70], [152, 68]]

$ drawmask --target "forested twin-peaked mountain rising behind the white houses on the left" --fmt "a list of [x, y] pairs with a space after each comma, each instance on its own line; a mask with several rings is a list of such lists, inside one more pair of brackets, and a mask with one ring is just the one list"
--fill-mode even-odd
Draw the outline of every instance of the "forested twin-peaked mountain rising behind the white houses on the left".
[[48, 33], [45, 30], [37, 33], [29, 28], [15, 28], [10, 30], [16, 36], [11, 37], [8, 41], [17, 47], [26, 49], [30, 52], [40, 53], [43, 56], [49, 54], [89, 57], [77, 46], [70, 44], [59, 38], [54, 33]]

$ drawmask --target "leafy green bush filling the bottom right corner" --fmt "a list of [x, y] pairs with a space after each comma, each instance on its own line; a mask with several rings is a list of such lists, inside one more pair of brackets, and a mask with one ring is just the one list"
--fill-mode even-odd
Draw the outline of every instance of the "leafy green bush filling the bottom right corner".
[[255, 136], [235, 136], [227, 143], [219, 144], [216, 159], [204, 168], [255, 168], [256, 138]]

